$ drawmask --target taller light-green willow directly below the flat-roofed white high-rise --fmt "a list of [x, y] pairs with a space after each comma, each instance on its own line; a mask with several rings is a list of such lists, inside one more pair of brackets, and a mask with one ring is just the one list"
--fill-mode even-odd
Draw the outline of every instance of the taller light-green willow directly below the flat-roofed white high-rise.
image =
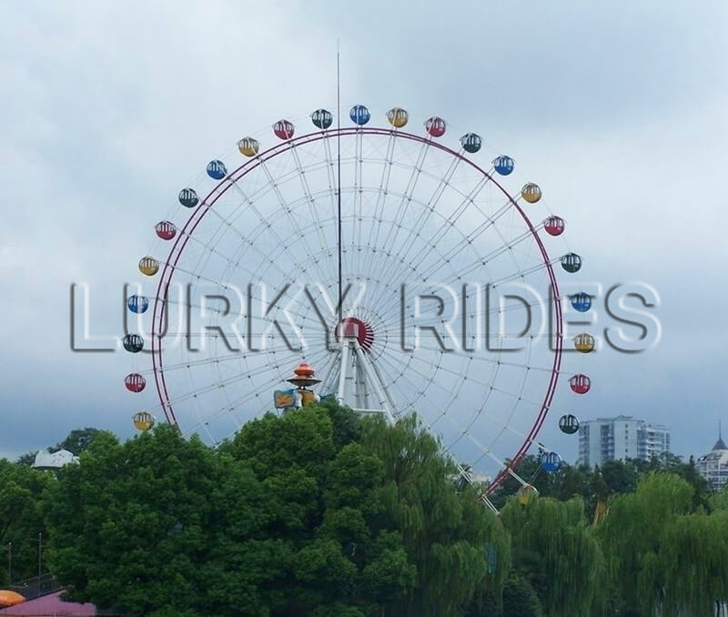
[[666, 530], [690, 511], [691, 485], [676, 475], [655, 472], [640, 480], [633, 493], [610, 502], [598, 528], [612, 586], [626, 608], [653, 615], [665, 600], [662, 549]]

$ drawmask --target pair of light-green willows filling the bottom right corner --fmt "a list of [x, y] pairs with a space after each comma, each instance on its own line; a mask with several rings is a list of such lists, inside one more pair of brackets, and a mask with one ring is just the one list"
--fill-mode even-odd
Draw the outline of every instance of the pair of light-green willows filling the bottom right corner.
[[612, 500], [599, 536], [622, 609], [705, 614], [728, 597], [728, 516], [692, 511], [691, 484], [664, 472]]

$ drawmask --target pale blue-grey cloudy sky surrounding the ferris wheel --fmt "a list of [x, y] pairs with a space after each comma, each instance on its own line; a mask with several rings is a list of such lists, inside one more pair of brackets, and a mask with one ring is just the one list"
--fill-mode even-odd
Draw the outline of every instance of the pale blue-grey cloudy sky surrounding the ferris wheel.
[[602, 349], [581, 417], [662, 422], [682, 455], [728, 432], [728, 5], [457, 5], [5, 3], [0, 455], [130, 434], [123, 354], [69, 349], [71, 283], [117, 334], [170, 196], [243, 133], [333, 107], [337, 38], [344, 106], [474, 127], [567, 213], [590, 280], [659, 292], [659, 345]]

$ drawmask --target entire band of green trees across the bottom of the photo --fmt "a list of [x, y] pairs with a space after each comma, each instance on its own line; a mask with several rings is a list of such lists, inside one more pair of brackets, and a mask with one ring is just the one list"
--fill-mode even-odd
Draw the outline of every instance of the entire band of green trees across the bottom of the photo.
[[551, 474], [526, 457], [541, 497], [496, 491], [496, 517], [416, 417], [335, 403], [253, 420], [216, 450], [167, 425], [57, 447], [81, 454], [57, 478], [0, 460], [13, 578], [35, 576], [41, 532], [71, 595], [118, 612], [668, 617], [728, 597], [728, 491], [709, 497], [672, 455]]

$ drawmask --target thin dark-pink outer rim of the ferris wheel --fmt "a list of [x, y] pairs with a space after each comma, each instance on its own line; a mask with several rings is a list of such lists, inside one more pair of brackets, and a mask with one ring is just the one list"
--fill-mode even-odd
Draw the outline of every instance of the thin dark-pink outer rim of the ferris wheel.
[[454, 157], [460, 162], [468, 164], [483, 177], [487, 178], [487, 181], [491, 182], [493, 186], [497, 187], [501, 191], [501, 194], [508, 200], [508, 203], [511, 205], [511, 207], [515, 208], [515, 210], [518, 212], [518, 214], [521, 216], [521, 219], [525, 223], [528, 233], [535, 241], [536, 246], [539, 248], [539, 251], [541, 253], [542, 264], [547, 271], [548, 278], [551, 283], [551, 288], [553, 290], [552, 304], [555, 313], [554, 320], [556, 331], [553, 335], [554, 348], [553, 361], [551, 366], [551, 379], [549, 380], [548, 388], [543, 397], [543, 400], [541, 401], [539, 413], [536, 416], [533, 424], [531, 425], [531, 430], [528, 432], [527, 435], [524, 436], [524, 440], [521, 443], [520, 448], [516, 451], [515, 455], [510, 460], [507, 460], [505, 462], [499, 473], [490, 482], [490, 485], [487, 489], [487, 493], [490, 493], [502, 483], [505, 477], [507, 477], [512, 472], [512, 470], [515, 469], [515, 467], [517, 467], [522, 457], [531, 448], [531, 445], [534, 443], [535, 437], [541, 430], [541, 427], [548, 415], [548, 411], [551, 408], [551, 402], [556, 392], [558, 379], [561, 373], [561, 356], [563, 352], [561, 294], [559, 291], [558, 279], [556, 278], [556, 275], [554, 273], [548, 251], [543, 245], [541, 237], [538, 234], [537, 228], [533, 225], [531, 218], [528, 217], [528, 215], [518, 203], [516, 198], [514, 198], [511, 193], [501, 185], [501, 183], [494, 177], [492, 173], [490, 173], [483, 167], [480, 167], [480, 165], [478, 165], [475, 161], [466, 157], [464, 150], [454, 150], [438, 141], [433, 140], [432, 137], [429, 135], [421, 136], [399, 129], [382, 128], [375, 126], [347, 126], [340, 128], [330, 127], [329, 129], [313, 131], [299, 137], [292, 137], [281, 141], [274, 146], [268, 147], [267, 149], [259, 152], [255, 157], [250, 157], [248, 158], [248, 160], [245, 160], [241, 165], [236, 167], [231, 172], [227, 173], [225, 177], [217, 180], [215, 186], [209, 190], [207, 195], [199, 200], [199, 203], [190, 213], [190, 216], [187, 217], [185, 225], [182, 228], [179, 228], [180, 233], [177, 234], [177, 238], [175, 238], [174, 244], [169, 251], [167, 259], [164, 262], [161, 276], [157, 284], [157, 294], [155, 297], [152, 313], [151, 356], [153, 365], [152, 370], [155, 376], [155, 385], [160, 406], [165, 413], [167, 422], [179, 426], [172, 400], [170, 399], [167, 389], [167, 379], [165, 378], [162, 345], [162, 338], [164, 337], [164, 334], [160, 334], [160, 332], [163, 331], [165, 312], [167, 310], [168, 291], [172, 282], [172, 278], [177, 271], [179, 259], [181, 258], [185, 248], [187, 247], [189, 239], [192, 237], [192, 234], [197, 229], [197, 226], [207, 215], [207, 211], [215, 205], [217, 199], [225, 195], [227, 193], [227, 190], [229, 190], [231, 187], [234, 187], [240, 179], [247, 176], [248, 173], [257, 169], [261, 165], [265, 165], [268, 160], [278, 157], [279, 155], [282, 155], [283, 153], [290, 150], [294, 150], [294, 148], [297, 146], [302, 146], [317, 141], [324, 141], [331, 138], [356, 137], [358, 135], [402, 137], [404, 139], [409, 139], [410, 141], [417, 142], [428, 147], [435, 147], [440, 151], [450, 155], [450, 157]]

